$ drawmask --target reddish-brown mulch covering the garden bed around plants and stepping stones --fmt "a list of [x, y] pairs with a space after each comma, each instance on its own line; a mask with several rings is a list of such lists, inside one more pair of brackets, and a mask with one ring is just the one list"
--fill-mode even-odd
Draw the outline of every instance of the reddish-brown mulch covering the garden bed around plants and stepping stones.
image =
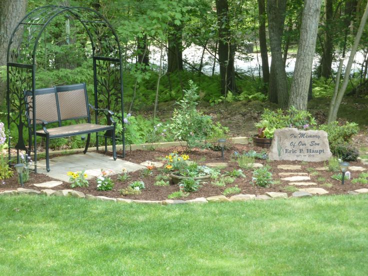
[[[243, 151], [249, 151], [249, 150], [255, 150], [257, 152], [261, 151], [261, 148], [259, 147], [253, 147], [251, 144], [247, 145], [241, 145], [241, 144], [232, 144], [228, 149], [225, 150], [224, 154], [224, 160], [221, 159], [221, 154], [219, 151], [213, 151], [210, 149], [193, 149], [191, 151], [186, 151], [185, 153], [189, 155], [190, 160], [195, 160], [199, 164], [205, 164], [209, 162], [227, 162], [228, 166], [226, 168], [221, 169], [221, 172], [224, 171], [230, 171], [233, 169], [239, 169], [236, 162], [232, 161], [231, 155], [237, 151], [239, 153]], [[177, 150], [179, 153], [182, 151], [181, 147], [170, 147], [170, 148], [157, 148], [155, 150], [134, 150], [134, 151], [127, 151], [125, 160], [134, 162], [134, 163], [140, 163], [146, 160], [150, 161], [160, 161], [162, 158], [167, 155], [168, 153]], [[317, 168], [326, 165], [327, 162], [301, 162], [301, 161], [267, 161], [267, 160], [261, 160], [256, 159], [255, 162], [262, 163], [263, 165], [268, 164], [271, 168], [270, 171], [272, 172], [273, 180], [279, 180], [278, 172], [308, 172], [307, 169], [310, 171], [310, 168]], [[284, 169], [278, 169], [277, 165], [279, 164], [292, 164], [292, 165], [301, 165], [300, 170], [284, 170]], [[368, 168], [368, 166], [361, 164], [360, 162], [350, 162], [350, 166], [363, 166], [365, 168]], [[292, 194], [291, 191], [285, 191], [284, 188], [288, 187], [289, 181], [280, 180], [279, 183], [273, 184], [269, 187], [258, 187], [253, 186], [251, 177], [252, 177], [252, 169], [242, 169], [244, 174], [246, 175], [245, 178], [236, 178], [235, 181], [232, 184], [227, 184], [226, 187], [219, 187], [208, 183], [201, 183], [201, 187], [196, 192], [191, 192], [189, 196], [181, 198], [181, 199], [193, 199], [196, 197], [208, 197], [212, 195], [219, 195], [221, 194], [225, 188], [227, 187], [233, 187], [234, 185], [237, 185], [238, 188], [240, 188], [241, 193], [246, 194], [264, 194], [267, 191], [279, 191], [279, 192], [287, 192], [287, 194], [290, 196]], [[304, 188], [304, 187], [321, 187], [329, 191], [329, 194], [346, 194], [349, 190], [354, 190], [358, 188], [368, 188], [368, 184], [352, 184], [350, 180], [345, 179], [345, 184], [341, 185], [341, 182], [339, 180], [335, 180], [331, 178], [332, 174], [335, 174], [336, 172], [330, 172], [330, 171], [317, 171], [317, 175], [309, 175], [310, 180], [305, 180], [306, 182], [315, 182], [317, 185], [313, 186], [295, 186], [296, 188]], [[143, 200], [164, 200], [167, 199], [167, 196], [174, 192], [178, 191], [179, 187], [178, 185], [171, 184], [169, 186], [155, 186], [153, 183], [155, 182], [155, 176], [158, 174], [161, 174], [162, 171], [160, 168], [153, 168], [151, 170], [151, 174], [148, 176], [142, 175], [142, 170], [138, 170], [135, 172], [129, 173], [130, 179], [126, 182], [119, 182], [116, 177], [117, 175], [111, 176], [111, 179], [114, 181], [115, 186], [113, 190], [110, 191], [97, 191], [96, 190], [96, 179], [90, 179], [89, 180], [89, 187], [76, 187], [73, 188], [78, 191], [82, 191], [84, 193], [89, 193], [93, 195], [104, 195], [108, 197], [122, 197], [122, 198], [130, 198], [130, 199], [143, 199]], [[352, 178], [357, 177], [359, 171], [351, 171]], [[290, 175], [291, 176], [291, 175]], [[282, 176], [285, 177], [285, 176]], [[317, 178], [324, 177], [325, 180], [318, 181]], [[44, 174], [30, 174], [30, 179], [28, 182], [24, 184], [25, 188], [32, 188], [36, 190], [41, 190], [43, 188], [38, 188], [33, 186], [33, 183], [41, 183], [45, 181], [50, 180], [56, 180], [53, 178], [50, 178]], [[145, 184], [145, 189], [142, 190], [142, 193], [139, 195], [128, 195], [123, 196], [119, 193], [119, 189], [125, 188], [128, 186], [128, 184], [133, 180], [142, 180]], [[20, 185], [17, 182], [16, 175], [12, 176], [9, 179], [4, 180], [5, 183], [1, 184], [0, 182], [0, 191], [2, 190], [8, 190], [8, 189], [16, 189], [20, 187]], [[325, 183], [332, 184], [331, 187], [327, 187]], [[58, 189], [69, 189], [70, 184], [67, 182], [63, 182], [62, 185], [56, 186], [52, 189], [58, 190]]]

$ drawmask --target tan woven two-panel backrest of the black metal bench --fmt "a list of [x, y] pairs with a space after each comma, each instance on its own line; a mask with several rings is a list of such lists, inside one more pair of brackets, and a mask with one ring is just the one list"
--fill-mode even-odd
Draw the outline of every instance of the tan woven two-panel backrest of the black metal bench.
[[[88, 118], [89, 106], [85, 83], [54, 86], [52, 88], [41, 88], [34, 91], [35, 118], [47, 122], [58, 122], [62, 120]], [[25, 102], [28, 107], [28, 120], [32, 123], [32, 92], [25, 92]], [[37, 120], [36, 123], [41, 123]]]

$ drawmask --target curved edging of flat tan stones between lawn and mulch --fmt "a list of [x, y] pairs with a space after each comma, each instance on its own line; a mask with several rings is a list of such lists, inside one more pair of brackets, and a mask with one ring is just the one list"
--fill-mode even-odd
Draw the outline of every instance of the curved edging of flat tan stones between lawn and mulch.
[[[348, 191], [347, 194], [361, 194], [368, 193], [368, 189], [356, 189]], [[73, 190], [73, 189], [63, 189], [63, 190], [53, 190], [53, 189], [41, 189], [40, 191], [35, 189], [27, 189], [27, 188], [17, 188], [16, 190], [3, 190], [0, 192], [0, 195], [18, 195], [18, 194], [30, 194], [30, 195], [46, 195], [46, 196], [69, 196], [69, 197], [77, 197], [84, 198], [86, 200], [102, 200], [102, 201], [114, 201], [119, 203], [139, 203], [139, 204], [160, 204], [160, 205], [172, 205], [172, 204], [190, 204], [190, 203], [209, 203], [209, 202], [234, 202], [234, 201], [249, 201], [249, 200], [268, 200], [268, 199], [287, 199], [287, 198], [295, 198], [295, 197], [311, 197], [310, 193], [298, 194], [298, 192], [294, 192], [291, 196], [287, 196], [285, 192], [266, 192], [266, 194], [235, 194], [231, 197], [226, 197], [223, 194], [208, 196], [208, 197], [197, 197], [189, 200], [180, 200], [180, 199], [165, 199], [165, 200], [138, 200], [138, 199], [129, 199], [129, 198], [113, 198], [107, 197], [103, 195], [92, 195], [92, 194], [84, 194], [81, 191]]]

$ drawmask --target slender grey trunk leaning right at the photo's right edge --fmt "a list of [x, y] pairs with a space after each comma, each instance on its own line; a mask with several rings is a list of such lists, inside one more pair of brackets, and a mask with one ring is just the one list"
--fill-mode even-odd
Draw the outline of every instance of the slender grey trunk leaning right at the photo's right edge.
[[[355, 53], [356, 53], [356, 49], [359, 45], [360, 37], [361, 37], [361, 34], [363, 33], [364, 25], [367, 21], [367, 18], [368, 18], [368, 2], [366, 3], [364, 14], [361, 17], [360, 25], [359, 25], [358, 31], [355, 35], [354, 44], [352, 45], [352, 48], [351, 48], [351, 51], [350, 51], [350, 56], [349, 56], [349, 59], [348, 59], [347, 64], [346, 64], [345, 74], [343, 76], [343, 81], [342, 81], [341, 88], [338, 90], [335, 101], [333, 102], [331, 100], [330, 112], [328, 114], [327, 122], [332, 122], [332, 121], [336, 120], [338, 107], [341, 104], [343, 94], [345, 93], [347, 84], [349, 82], [351, 65], [352, 65], [352, 62], [354, 61], [354, 56], [355, 56]], [[339, 85], [339, 83], [337, 81], [336, 81], [336, 85], [337, 85], [337, 87]]]

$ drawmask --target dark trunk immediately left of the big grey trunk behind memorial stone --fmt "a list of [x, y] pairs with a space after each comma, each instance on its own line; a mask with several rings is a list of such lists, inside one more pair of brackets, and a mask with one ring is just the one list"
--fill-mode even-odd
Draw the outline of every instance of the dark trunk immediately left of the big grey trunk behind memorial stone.
[[285, 21], [286, 0], [268, 0], [268, 33], [271, 46], [271, 72], [268, 88], [268, 98], [276, 97], [281, 108], [287, 107], [288, 91], [285, 65], [281, 52], [282, 29]]

